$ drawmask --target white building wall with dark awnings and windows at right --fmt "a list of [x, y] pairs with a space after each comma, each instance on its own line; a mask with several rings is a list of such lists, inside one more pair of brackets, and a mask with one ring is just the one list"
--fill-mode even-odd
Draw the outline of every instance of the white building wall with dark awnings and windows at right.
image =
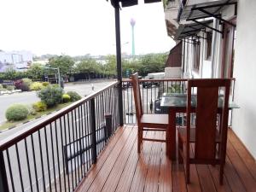
[[236, 79], [232, 129], [256, 159], [256, 1], [169, 1], [165, 12], [168, 35], [183, 44], [183, 78]]

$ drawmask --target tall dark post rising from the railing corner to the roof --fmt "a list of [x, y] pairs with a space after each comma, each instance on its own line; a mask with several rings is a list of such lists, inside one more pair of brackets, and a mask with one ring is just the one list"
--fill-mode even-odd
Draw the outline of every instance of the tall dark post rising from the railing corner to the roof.
[[121, 38], [120, 38], [120, 17], [119, 17], [119, 1], [114, 5], [115, 15], [115, 38], [116, 38], [116, 64], [118, 76], [118, 93], [119, 93], [119, 125], [124, 125], [123, 118], [123, 97], [122, 97], [122, 61], [121, 61]]

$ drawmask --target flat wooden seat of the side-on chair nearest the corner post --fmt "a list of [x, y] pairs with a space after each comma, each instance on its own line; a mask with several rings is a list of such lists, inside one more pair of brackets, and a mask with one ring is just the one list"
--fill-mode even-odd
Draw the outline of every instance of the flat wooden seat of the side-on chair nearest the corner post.
[[168, 114], [143, 114], [141, 123], [143, 125], [168, 125]]

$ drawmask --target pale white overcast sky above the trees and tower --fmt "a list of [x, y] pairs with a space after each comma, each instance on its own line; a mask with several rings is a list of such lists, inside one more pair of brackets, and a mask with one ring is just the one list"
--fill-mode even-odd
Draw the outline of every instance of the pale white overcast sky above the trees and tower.
[[[114, 9], [106, 0], [1, 0], [0, 49], [35, 55], [115, 54]], [[120, 10], [122, 52], [131, 55], [130, 20], [136, 20], [135, 53], [175, 45], [167, 36], [162, 3]]]

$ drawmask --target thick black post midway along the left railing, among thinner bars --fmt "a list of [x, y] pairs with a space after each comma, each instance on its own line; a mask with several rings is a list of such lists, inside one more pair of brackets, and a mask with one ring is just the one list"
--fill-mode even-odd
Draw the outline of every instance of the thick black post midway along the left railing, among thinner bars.
[[91, 127], [91, 151], [92, 163], [97, 161], [97, 144], [96, 144], [96, 113], [95, 113], [95, 99], [90, 100], [90, 127]]

